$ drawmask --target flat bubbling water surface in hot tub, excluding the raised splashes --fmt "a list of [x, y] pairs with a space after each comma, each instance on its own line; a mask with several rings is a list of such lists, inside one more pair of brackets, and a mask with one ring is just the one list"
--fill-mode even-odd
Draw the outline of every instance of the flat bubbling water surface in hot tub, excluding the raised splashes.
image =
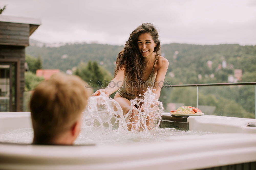
[[[115, 133], [111, 135], [102, 133], [99, 129], [95, 129], [93, 133], [88, 131], [88, 129], [81, 129], [77, 140], [74, 144], [101, 144], [101, 145], [123, 145], [129, 143], [152, 143], [165, 141], [170, 137], [180, 137], [184, 135], [206, 135], [215, 134], [216, 132], [206, 132], [206, 131], [182, 131], [175, 128], [155, 128], [152, 131], [137, 132], [133, 133], [129, 131], [128, 133]], [[23, 143], [31, 144], [33, 140], [33, 129], [32, 128], [21, 128], [9, 131], [4, 134], [0, 134], [0, 142], [10, 142], [10, 143]]]

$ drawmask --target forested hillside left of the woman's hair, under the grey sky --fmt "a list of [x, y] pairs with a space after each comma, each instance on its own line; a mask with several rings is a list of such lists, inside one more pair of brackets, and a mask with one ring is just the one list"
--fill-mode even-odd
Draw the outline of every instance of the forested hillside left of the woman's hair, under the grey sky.
[[42, 59], [44, 69], [66, 71], [77, 67], [81, 62], [97, 61], [113, 74], [114, 61], [122, 46], [104, 44], [66, 44], [60, 47], [29, 46], [26, 54]]

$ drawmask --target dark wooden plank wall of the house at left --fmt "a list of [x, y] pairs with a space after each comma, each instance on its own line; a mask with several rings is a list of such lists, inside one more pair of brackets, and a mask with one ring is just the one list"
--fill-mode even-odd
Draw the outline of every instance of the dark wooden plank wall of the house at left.
[[[37, 26], [38, 27], [38, 26]], [[23, 111], [25, 87], [25, 46], [28, 46], [30, 25], [0, 22], [0, 62], [16, 64], [16, 112]]]

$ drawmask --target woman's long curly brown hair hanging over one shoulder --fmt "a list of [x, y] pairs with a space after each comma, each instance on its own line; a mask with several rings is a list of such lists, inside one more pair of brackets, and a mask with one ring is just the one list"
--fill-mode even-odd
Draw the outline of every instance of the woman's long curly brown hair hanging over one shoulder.
[[160, 41], [158, 40], [158, 32], [151, 23], [142, 23], [132, 33], [128, 41], [124, 45], [124, 49], [118, 54], [116, 59], [115, 76], [120, 68], [125, 70], [125, 81], [130, 87], [129, 93], [138, 96], [142, 93], [143, 87], [138, 86], [142, 83], [143, 72], [146, 67], [146, 58], [142, 56], [138, 48], [138, 37], [142, 33], [150, 33], [156, 47], [154, 53], [156, 60], [161, 56]]

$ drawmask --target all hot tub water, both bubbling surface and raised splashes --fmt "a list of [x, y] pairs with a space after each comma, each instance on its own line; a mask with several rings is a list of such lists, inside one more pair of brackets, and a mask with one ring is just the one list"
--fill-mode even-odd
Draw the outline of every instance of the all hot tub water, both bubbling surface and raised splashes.
[[[123, 115], [121, 106], [104, 93], [91, 96], [83, 113], [81, 132], [74, 144], [119, 145], [134, 142], [158, 142], [181, 135], [204, 135], [213, 132], [182, 131], [175, 128], [159, 128], [162, 102], [155, 100], [152, 89], [144, 94], [144, 99], [131, 100], [131, 110]], [[132, 115], [133, 113], [136, 113]], [[136, 118], [131, 120], [132, 117]], [[129, 127], [131, 129], [129, 129]], [[23, 128], [0, 134], [1, 142], [30, 144], [33, 129]]]

